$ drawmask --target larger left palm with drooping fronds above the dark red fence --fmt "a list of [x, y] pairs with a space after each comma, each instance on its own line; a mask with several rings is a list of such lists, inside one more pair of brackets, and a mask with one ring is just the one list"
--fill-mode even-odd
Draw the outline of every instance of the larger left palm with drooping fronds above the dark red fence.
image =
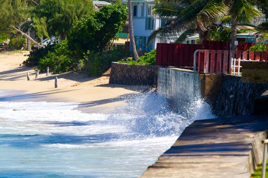
[[166, 21], [166, 26], [157, 28], [148, 43], [156, 38], [168, 38], [182, 42], [188, 36], [198, 33], [201, 43], [209, 40], [210, 26], [226, 14], [224, 1], [179, 1], [158, 2], [154, 8], [157, 17]]

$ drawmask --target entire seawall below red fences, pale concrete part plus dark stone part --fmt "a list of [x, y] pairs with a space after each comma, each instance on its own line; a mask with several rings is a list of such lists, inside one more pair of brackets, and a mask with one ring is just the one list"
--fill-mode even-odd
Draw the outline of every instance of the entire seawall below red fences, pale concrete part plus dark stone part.
[[[158, 93], [174, 108], [193, 101], [194, 74], [191, 70], [160, 68]], [[196, 74], [197, 98], [209, 103], [219, 117], [254, 113], [254, 101], [268, 90], [266, 83], [241, 83], [241, 77], [222, 74]]]

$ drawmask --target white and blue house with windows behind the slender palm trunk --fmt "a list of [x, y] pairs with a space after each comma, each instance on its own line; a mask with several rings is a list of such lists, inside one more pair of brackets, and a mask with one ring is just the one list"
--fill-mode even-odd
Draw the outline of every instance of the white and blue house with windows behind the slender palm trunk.
[[[128, 3], [127, 0], [121, 1], [121, 3]], [[160, 18], [156, 18], [152, 14], [154, 8], [154, 0], [133, 0], [132, 1], [132, 16], [133, 16], [133, 28], [136, 48], [139, 51], [151, 51], [156, 48], [156, 44], [159, 42], [166, 43], [167, 41], [161, 41], [155, 39], [148, 46], [147, 40], [154, 29], [165, 26], [164, 21]]]

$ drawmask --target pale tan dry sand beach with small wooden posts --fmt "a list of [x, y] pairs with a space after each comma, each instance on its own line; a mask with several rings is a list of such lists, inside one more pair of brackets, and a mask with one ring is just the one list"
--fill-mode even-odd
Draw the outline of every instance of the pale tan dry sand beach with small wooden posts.
[[[46, 76], [40, 73], [35, 79], [34, 68], [23, 67], [28, 51], [0, 54], [0, 90], [9, 90], [0, 101], [79, 102], [82, 111], [103, 111], [124, 104], [127, 98], [144, 90], [144, 86], [109, 84], [109, 76], [87, 77], [72, 72]], [[27, 72], [31, 80], [27, 80]], [[54, 87], [58, 77], [58, 88]], [[11, 91], [10, 91], [11, 90]]]

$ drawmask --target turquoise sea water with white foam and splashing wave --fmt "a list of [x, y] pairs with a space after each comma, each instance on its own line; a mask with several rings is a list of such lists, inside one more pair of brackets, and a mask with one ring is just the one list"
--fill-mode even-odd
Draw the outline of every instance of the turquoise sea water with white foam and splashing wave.
[[110, 114], [1, 95], [0, 177], [138, 177], [196, 118], [173, 113], [148, 94]]

